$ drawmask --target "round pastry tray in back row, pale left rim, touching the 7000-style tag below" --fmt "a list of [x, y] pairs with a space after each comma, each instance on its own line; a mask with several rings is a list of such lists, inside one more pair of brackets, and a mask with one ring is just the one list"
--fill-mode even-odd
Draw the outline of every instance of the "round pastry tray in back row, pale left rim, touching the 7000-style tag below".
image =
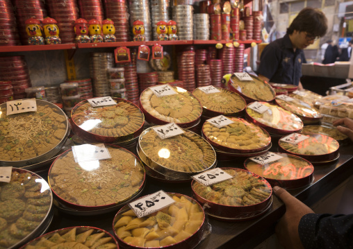
[[158, 97], [150, 88], [142, 92], [140, 103], [146, 121], [156, 125], [177, 123], [181, 128], [189, 128], [199, 121], [202, 106], [186, 89], [171, 88], [176, 94]]

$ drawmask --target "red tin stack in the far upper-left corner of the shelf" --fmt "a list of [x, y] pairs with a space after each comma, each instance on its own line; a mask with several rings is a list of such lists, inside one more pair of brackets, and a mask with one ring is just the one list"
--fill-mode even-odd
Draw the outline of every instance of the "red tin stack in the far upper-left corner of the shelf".
[[0, 46], [20, 45], [13, 4], [10, 0], [1, 0], [0, 7]]

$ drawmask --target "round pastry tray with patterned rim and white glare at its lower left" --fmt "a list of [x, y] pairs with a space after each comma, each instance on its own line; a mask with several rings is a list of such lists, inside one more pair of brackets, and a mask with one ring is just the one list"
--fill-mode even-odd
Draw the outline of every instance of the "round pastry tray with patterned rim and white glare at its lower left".
[[74, 107], [72, 123], [80, 137], [92, 142], [121, 143], [140, 135], [145, 123], [140, 108], [122, 98], [114, 100], [116, 105], [93, 108], [88, 101], [81, 101]]

